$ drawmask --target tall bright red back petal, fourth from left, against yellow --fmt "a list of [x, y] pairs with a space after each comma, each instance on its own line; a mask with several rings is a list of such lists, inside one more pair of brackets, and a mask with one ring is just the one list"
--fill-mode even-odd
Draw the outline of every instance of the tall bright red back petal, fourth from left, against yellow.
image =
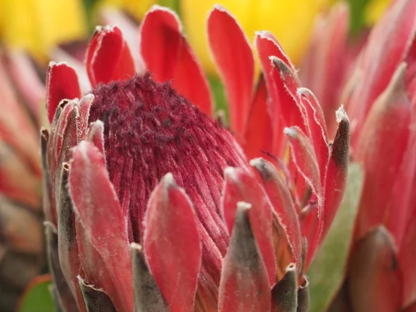
[[230, 128], [242, 137], [254, 87], [254, 58], [243, 29], [222, 6], [215, 6], [207, 21], [209, 46], [223, 78], [229, 105]]

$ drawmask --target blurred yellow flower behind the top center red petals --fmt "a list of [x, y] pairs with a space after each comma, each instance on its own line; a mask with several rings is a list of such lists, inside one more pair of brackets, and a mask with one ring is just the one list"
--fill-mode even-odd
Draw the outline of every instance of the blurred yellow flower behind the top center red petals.
[[206, 23], [209, 10], [218, 3], [225, 6], [239, 20], [249, 40], [254, 31], [271, 31], [281, 42], [295, 64], [299, 64], [315, 16], [327, 0], [182, 0], [180, 10], [193, 48], [208, 73], [216, 73], [209, 57]]

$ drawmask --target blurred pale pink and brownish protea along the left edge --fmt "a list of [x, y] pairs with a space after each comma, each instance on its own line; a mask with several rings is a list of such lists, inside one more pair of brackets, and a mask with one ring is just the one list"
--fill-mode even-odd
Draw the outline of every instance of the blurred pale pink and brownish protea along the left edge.
[[37, 139], [44, 89], [16, 51], [0, 50], [0, 84], [0, 310], [14, 311], [46, 264]]

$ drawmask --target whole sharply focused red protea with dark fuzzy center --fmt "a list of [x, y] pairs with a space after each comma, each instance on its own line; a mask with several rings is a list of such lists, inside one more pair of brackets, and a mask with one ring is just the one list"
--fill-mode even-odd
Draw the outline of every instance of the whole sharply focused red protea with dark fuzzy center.
[[[319, 104], [271, 33], [256, 37], [254, 85], [250, 45], [217, 6], [208, 34], [229, 132], [210, 117], [207, 80], [181, 29], [170, 10], [147, 13], [150, 73], [137, 74], [119, 28], [97, 28], [84, 96], [71, 67], [49, 67], [42, 157], [57, 302], [66, 311], [305, 311], [304, 273], [343, 195], [347, 116], [338, 110], [329, 146]], [[269, 160], [248, 160], [261, 155]]]

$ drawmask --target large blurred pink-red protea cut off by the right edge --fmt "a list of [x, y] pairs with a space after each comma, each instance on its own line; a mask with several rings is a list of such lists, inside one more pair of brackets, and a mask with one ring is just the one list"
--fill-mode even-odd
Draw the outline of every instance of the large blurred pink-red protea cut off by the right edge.
[[330, 311], [416, 309], [415, 16], [415, 1], [392, 4], [345, 92], [364, 181], [345, 281]]

